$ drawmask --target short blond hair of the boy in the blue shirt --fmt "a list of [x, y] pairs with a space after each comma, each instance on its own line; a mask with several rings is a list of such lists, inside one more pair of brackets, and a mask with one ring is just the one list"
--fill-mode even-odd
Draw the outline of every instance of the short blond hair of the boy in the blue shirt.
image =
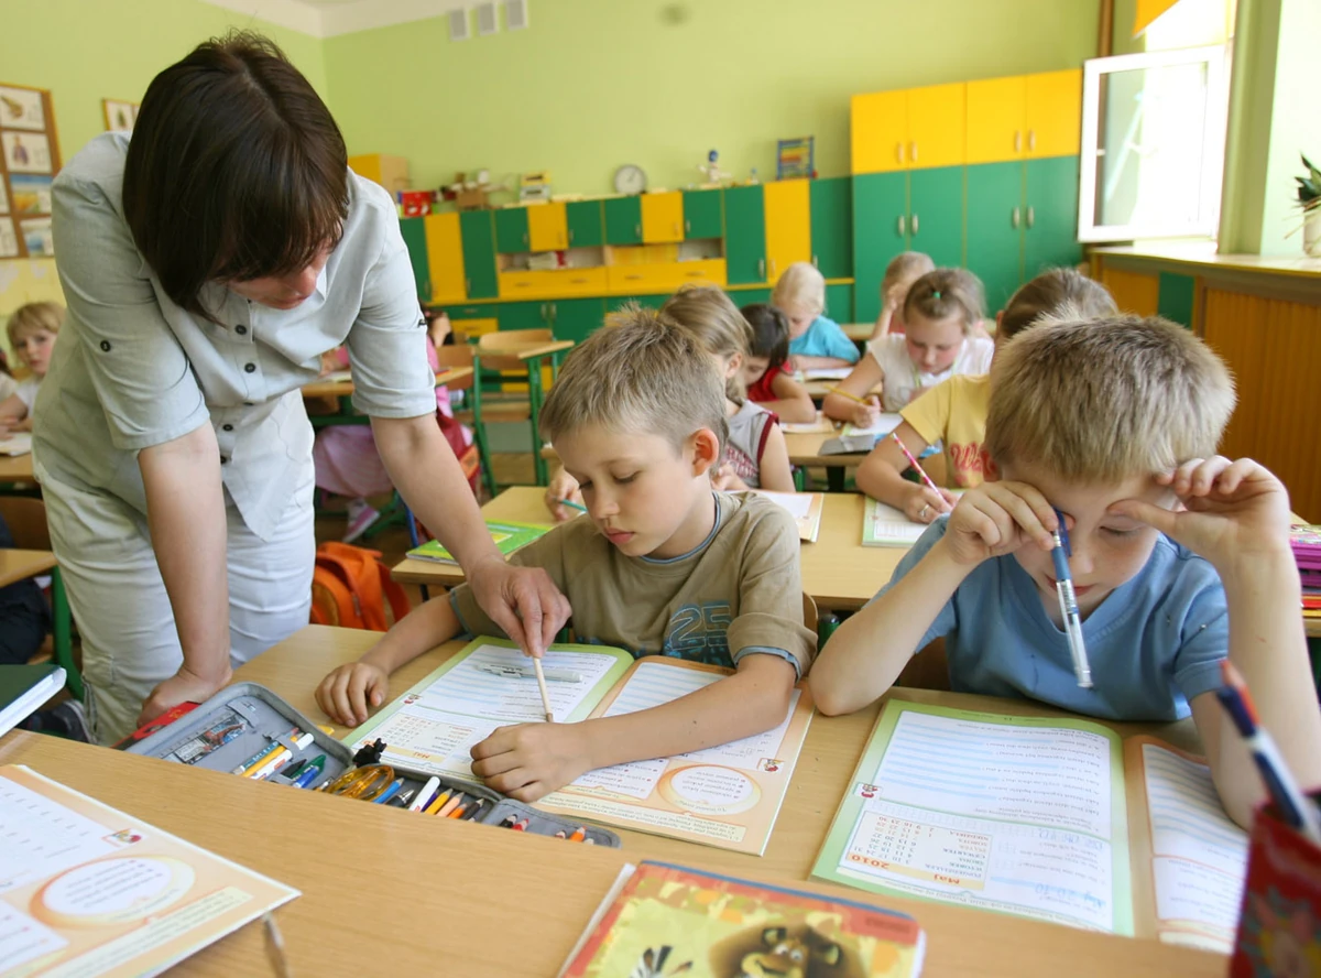
[[1162, 319], [1048, 319], [991, 366], [987, 453], [1059, 478], [1115, 484], [1207, 457], [1234, 411], [1211, 350]]

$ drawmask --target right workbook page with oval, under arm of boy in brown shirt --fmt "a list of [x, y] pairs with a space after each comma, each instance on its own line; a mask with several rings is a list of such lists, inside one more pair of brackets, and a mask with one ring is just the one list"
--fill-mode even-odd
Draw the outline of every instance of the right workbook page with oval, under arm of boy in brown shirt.
[[[679, 699], [733, 670], [651, 656], [639, 659], [594, 716], [620, 716]], [[778, 727], [729, 744], [589, 771], [542, 798], [561, 814], [761, 855], [798, 761], [811, 696], [794, 690]]]

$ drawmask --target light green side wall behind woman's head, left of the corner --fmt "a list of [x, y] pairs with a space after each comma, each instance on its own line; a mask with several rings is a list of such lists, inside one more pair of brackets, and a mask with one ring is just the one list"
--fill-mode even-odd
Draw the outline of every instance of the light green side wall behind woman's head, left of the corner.
[[231, 26], [272, 37], [326, 94], [321, 41], [199, 0], [0, 0], [0, 82], [50, 90], [65, 160], [106, 131], [103, 98], [141, 100], [156, 73]]

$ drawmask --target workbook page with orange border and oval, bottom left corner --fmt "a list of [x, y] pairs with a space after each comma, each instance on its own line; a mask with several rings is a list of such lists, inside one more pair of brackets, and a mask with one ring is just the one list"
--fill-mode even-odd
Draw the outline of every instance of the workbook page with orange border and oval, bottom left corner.
[[0, 978], [160, 974], [296, 896], [29, 768], [0, 768]]

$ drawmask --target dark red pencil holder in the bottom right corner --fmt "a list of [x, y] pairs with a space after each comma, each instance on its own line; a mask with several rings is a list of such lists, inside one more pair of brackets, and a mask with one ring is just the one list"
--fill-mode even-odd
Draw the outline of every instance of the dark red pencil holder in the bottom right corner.
[[[1312, 796], [1312, 804], [1317, 801], [1321, 794]], [[1318, 962], [1321, 846], [1281, 821], [1273, 805], [1262, 805], [1248, 834], [1230, 978], [1314, 975], [1321, 974]]]

